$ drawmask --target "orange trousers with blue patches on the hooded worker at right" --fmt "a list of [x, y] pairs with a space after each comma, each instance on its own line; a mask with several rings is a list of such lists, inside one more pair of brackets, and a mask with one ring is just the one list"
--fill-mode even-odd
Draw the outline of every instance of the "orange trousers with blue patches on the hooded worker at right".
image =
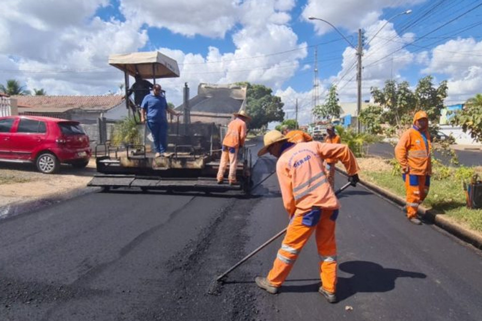
[[402, 176], [407, 191], [407, 217], [417, 216], [418, 206], [425, 200], [430, 189], [430, 176], [407, 175]]

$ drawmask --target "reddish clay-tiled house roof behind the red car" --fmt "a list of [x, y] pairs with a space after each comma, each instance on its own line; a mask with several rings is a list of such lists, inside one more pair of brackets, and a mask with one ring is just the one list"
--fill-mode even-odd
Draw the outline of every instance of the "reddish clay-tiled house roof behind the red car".
[[71, 109], [86, 111], [109, 110], [124, 101], [123, 95], [102, 96], [12, 96], [23, 112], [65, 112]]

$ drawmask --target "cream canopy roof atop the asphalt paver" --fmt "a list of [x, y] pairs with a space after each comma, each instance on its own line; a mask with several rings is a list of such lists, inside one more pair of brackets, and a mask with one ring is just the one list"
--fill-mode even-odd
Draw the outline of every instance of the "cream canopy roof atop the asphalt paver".
[[109, 65], [143, 79], [179, 77], [177, 61], [157, 51], [110, 55]]

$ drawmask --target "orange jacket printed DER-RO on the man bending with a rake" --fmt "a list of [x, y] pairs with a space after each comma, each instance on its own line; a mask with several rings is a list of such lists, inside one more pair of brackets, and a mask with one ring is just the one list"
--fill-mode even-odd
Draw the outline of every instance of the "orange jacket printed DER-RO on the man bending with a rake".
[[283, 204], [290, 216], [303, 215], [317, 206], [339, 208], [338, 199], [325, 176], [324, 158], [339, 160], [348, 175], [359, 171], [348, 146], [318, 141], [301, 142], [285, 149], [276, 163]]

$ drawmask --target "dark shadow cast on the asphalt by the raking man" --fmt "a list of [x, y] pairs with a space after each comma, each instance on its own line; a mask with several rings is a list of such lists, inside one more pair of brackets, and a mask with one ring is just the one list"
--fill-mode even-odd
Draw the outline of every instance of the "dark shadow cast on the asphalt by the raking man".
[[[399, 277], [426, 278], [427, 275], [418, 272], [399, 269], [384, 268], [382, 265], [368, 261], [348, 261], [341, 263], [338, 268], [351, 277], [338, 277], [337, 296], [342, 301], [360, 292], [388, 292], [395, 288], [395, 280]], [[318, 279], [305, 279], [303, 281], [316, 281], [311, 284], [289, 285], [287, 281], [282, 286], [283, 292], [316, 292], [320, 286]], [[301, 280], [290, 280], [301, 281]]]

